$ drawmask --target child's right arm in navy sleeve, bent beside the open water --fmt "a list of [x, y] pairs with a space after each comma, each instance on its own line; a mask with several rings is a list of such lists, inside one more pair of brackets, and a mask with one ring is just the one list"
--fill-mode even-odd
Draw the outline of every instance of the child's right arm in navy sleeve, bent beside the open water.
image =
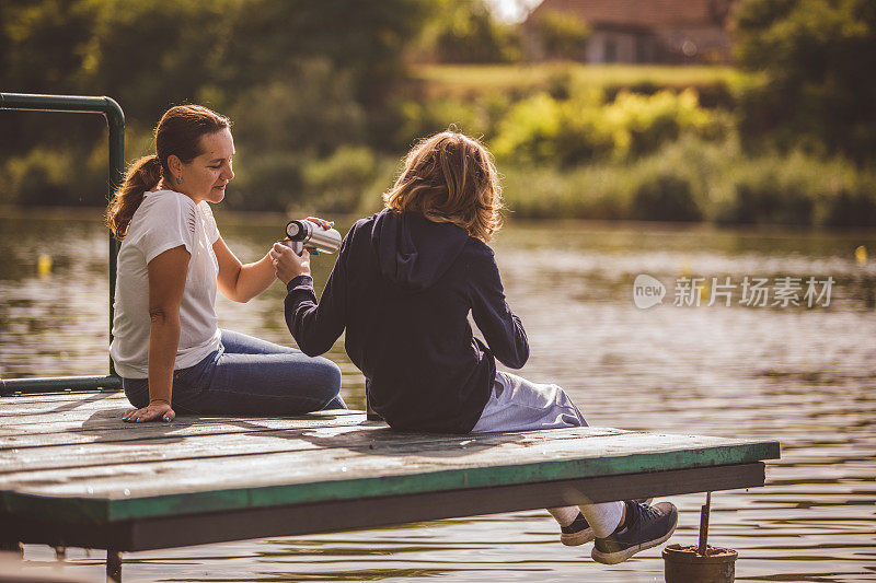
[[529, 359], [529, 341], [523, 324], [505, 302], [505, 291], [496, 261], [483, 261], [470, 269], [472, 316], [493, 354], [506, 366], [520, 369]]

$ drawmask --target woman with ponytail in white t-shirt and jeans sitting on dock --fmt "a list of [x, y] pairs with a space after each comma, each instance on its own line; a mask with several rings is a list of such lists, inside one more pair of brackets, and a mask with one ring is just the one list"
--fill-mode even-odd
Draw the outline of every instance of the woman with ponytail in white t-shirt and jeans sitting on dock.
[[245, 265], [234, 256], [209, 208], [234, 177], [230, 127], [206, 107], [172, 107], [155, 154], [131, 165], [110, 201], [122, 241], [110, 354], [136, 407], [126, 421], [345, 407], [333, 362], [218, 327], [217, 289], [246, 302], [275, 277], [269, 255]]

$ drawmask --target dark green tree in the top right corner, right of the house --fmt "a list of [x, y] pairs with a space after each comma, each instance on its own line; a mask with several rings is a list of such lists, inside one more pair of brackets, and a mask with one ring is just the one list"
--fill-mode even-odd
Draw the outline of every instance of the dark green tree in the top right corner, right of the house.
[[737, 57], [760, 73], [740, 98], [747, 143], [876, 158], [876, 2], [747, 0]]

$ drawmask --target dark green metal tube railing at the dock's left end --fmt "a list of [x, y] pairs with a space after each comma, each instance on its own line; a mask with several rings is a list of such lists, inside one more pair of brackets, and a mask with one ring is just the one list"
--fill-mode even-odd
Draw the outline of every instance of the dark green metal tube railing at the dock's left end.
[[[111, 97], [79, 95], [33, 95], [27, 93], [0, 93], [0, 109], [26, 112], [62, 112], [101, 114], [110, 128], [110, 193], [122, 185], [125, 177], [125, 113]], [[113, 340], [113, 298], [116, 288], [116, 260], [118, 241], [110, 235], [110, 341]], [[0, 395], [16, 393], [51, 393], [57, 390], [88, 390], [122, 388], [112, 359], [107, 376], [56, 376], [42, 378], [0, 378]]]

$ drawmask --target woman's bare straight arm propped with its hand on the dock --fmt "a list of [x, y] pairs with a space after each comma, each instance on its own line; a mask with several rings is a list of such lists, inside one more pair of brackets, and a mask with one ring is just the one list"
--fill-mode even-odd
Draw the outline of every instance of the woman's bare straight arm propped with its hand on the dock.
[[171, 421], [173, 364], [180, 346], [180, 304], [183, 301], [189, 254], [180, 245], [155, 256], [149, 275], [149, 406], [125, 413], [125, 421]]

